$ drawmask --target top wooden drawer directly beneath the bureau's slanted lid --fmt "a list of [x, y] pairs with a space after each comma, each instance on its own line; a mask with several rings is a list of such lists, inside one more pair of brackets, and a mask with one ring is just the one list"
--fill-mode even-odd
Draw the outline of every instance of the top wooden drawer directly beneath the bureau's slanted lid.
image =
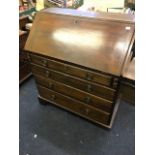
[[[38, 64], [40, 66], [67, 73], [95, 83], [103, 84], [108, 87], [116, 88], [116, 86], [113, 85], [113, 78], [110, 75], [99, 74], [90, 70], [82, 69], [55, 60], [46, 59], [44, 57], [36, 56], [33, 54], [30, 54], [30, 57], [32, 63]], [[115, 81], [116, 79], [118, 78], [115, 78]]]

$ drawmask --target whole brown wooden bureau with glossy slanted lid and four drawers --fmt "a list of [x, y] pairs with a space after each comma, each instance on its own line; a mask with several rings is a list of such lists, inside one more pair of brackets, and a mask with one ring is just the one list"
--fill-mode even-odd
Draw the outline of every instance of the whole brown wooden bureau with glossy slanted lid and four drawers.
[[25, 45], [39, 99], [111, 128], [134, 16], [49, 8]]

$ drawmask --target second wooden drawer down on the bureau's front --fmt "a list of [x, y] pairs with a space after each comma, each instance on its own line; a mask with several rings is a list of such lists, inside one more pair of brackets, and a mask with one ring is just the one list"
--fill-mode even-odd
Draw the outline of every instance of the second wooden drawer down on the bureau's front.
[[32, 65], [31, 67], [33, 74], [42, 75], [44, 77], [48, 77], [55, 81], [59, 81], [66, 85], [75, 87], [77, 89], [81, 89], [90, 94], [94, 94], [96, 96], [102, 97], [109, 101], [113, 101], [115, 97], [116, 90], [110, 89], [108, 87], [100, 86], [97, 84], [92, 84], [91, 82], [87, 82], [84, 80], [80, 80], [73, 76], [69, 76], [68, 74], [63, 74], [61, 72], [48, 70], [43, 67], [39, 67], [37, 65]]

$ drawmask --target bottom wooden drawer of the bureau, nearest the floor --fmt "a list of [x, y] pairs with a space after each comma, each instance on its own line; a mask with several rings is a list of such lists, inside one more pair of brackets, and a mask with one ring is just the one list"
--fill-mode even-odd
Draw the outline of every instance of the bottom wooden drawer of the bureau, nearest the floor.
[[61, 106], [67, 110], [78, 113], [84, 117], [93, 119], [102, 124], [109, 124], [110, 114], [93, 109], [75, 99], [62, 95], [60, 93], [49, 90], [38, 85], [38, 91], [41, 97], [53, 102], [57, 106]]

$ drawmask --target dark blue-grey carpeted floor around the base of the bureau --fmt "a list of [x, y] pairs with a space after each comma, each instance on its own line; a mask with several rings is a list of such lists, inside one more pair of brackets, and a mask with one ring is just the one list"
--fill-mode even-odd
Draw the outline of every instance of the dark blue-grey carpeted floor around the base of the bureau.
[[134, 155], [135, 107], [121, 102], [111, 130], [39, 104], [33, 77], [20, 86], [20, 155]]

